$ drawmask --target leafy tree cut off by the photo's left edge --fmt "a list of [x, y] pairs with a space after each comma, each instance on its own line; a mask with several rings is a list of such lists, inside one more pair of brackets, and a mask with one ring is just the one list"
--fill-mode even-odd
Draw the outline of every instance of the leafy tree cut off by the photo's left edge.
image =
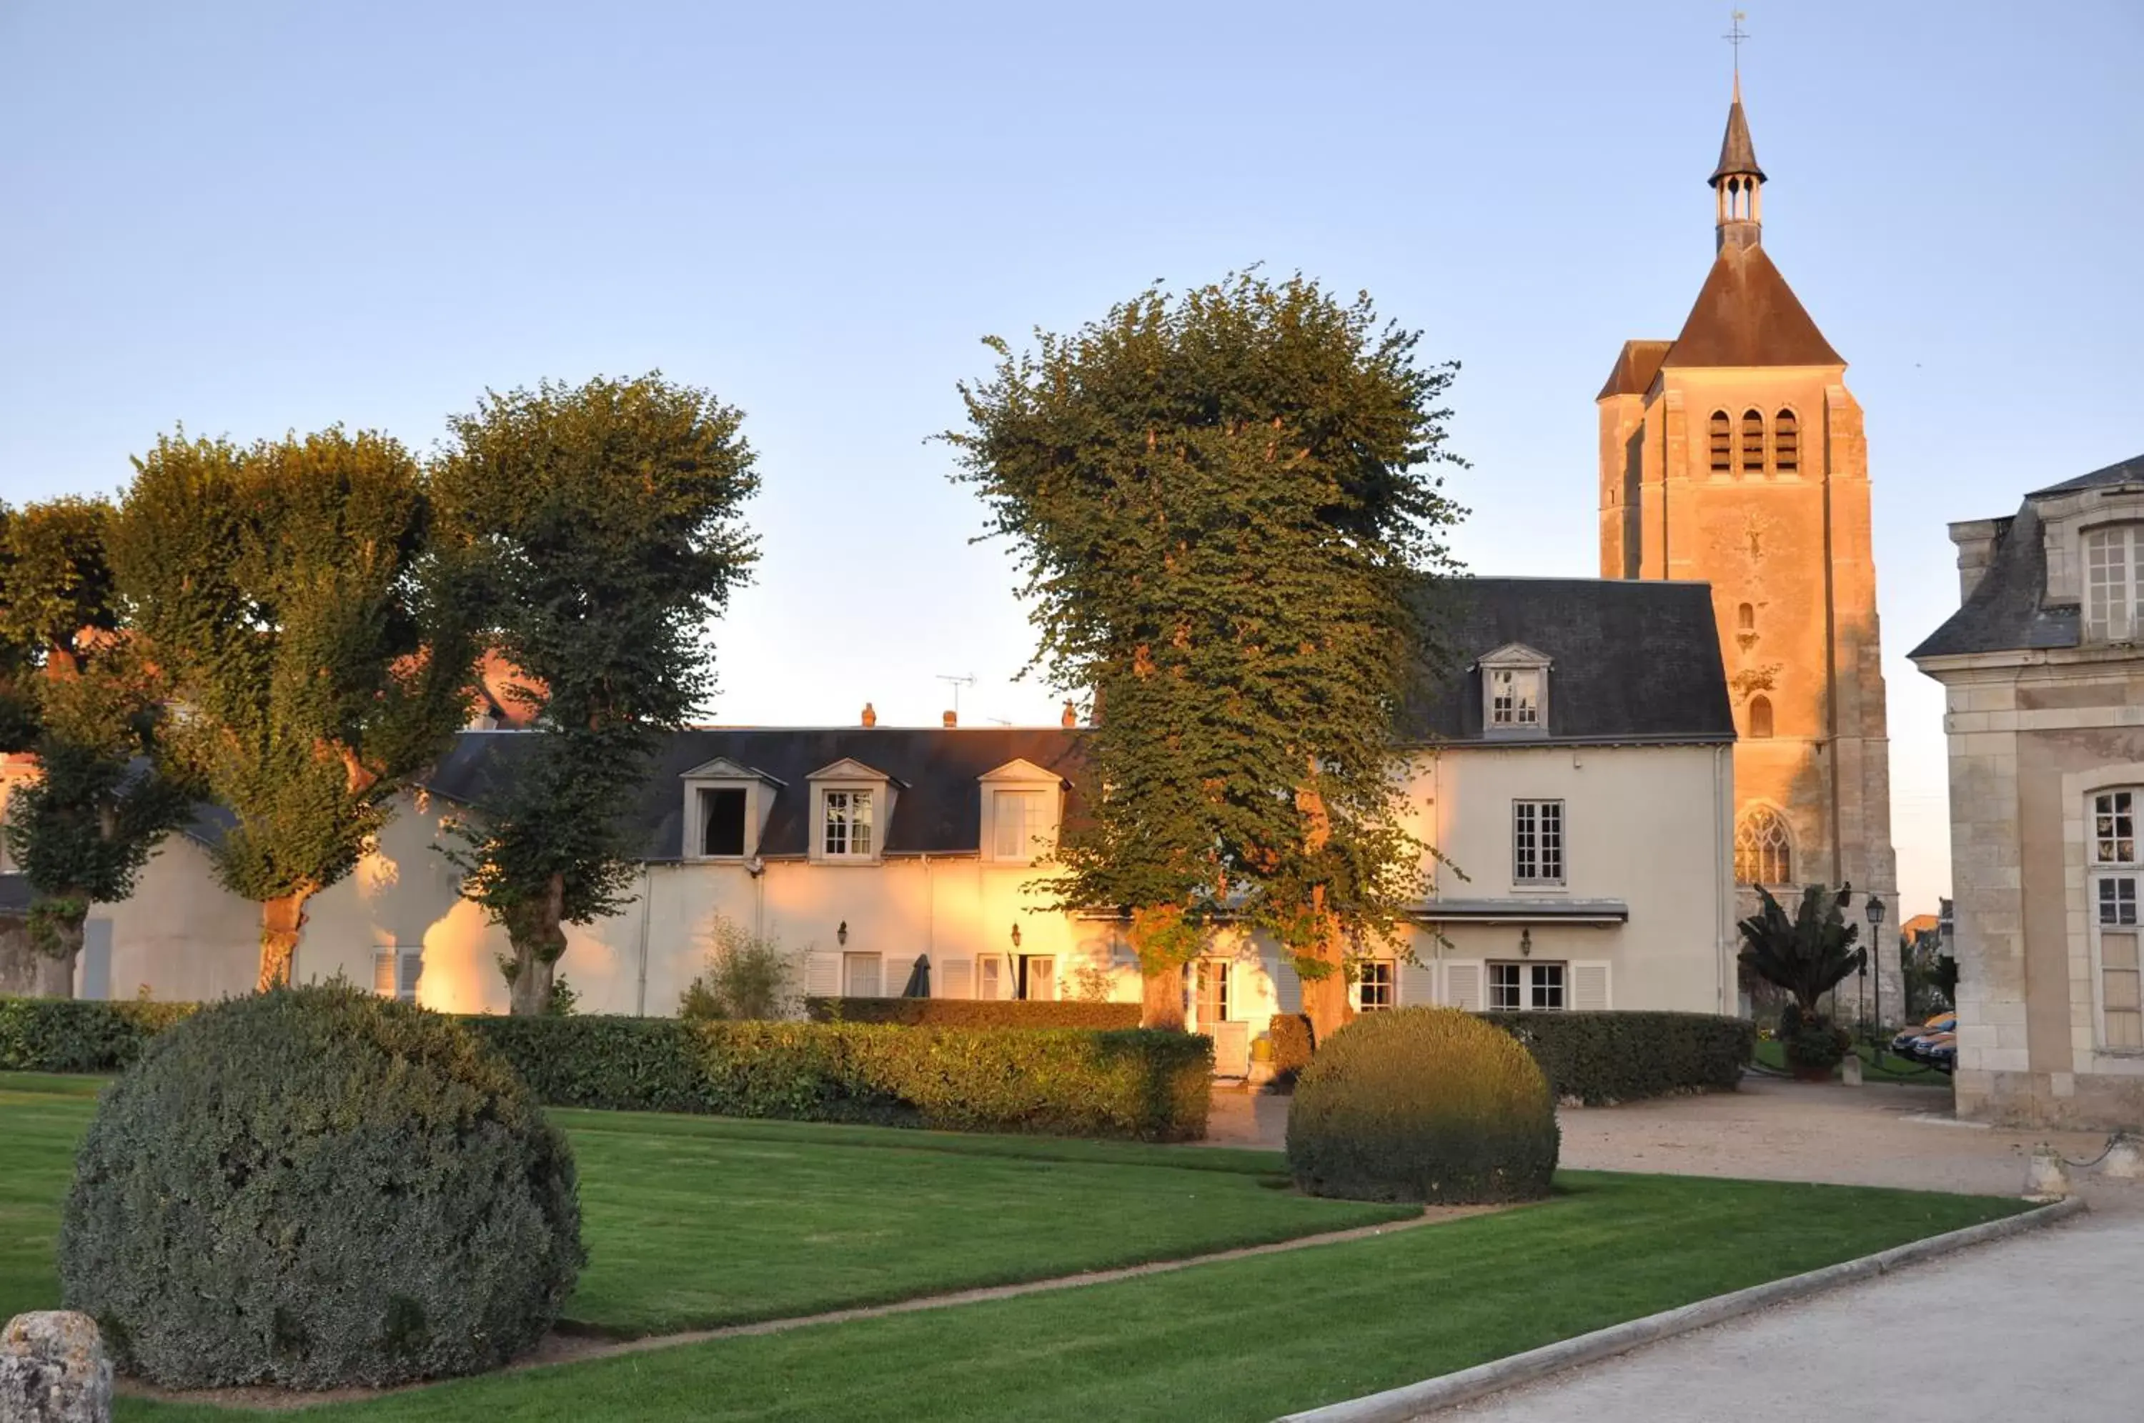
[[101, 499], [0, 512], [0, 750], [36, 776], [9, 799], [6, 847], [30, 881], [36, 990], [66, 999], [92, 904], [133, 894], [187, 787], [157, 761], [163, 686], [120, 630]]

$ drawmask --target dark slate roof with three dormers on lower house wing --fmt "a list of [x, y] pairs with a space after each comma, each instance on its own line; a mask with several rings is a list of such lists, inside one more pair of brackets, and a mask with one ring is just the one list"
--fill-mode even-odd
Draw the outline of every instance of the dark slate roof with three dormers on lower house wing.
[[[540, 733], [465, 731], [427, 778], [446, 799], [482, 806], [500, 776]], [[1033, 761], [1070, 778], [1078, 731], [1014, 727], [705, 727], [675, 731], [630, 825], [645, 859], [680, 859], [684, 782], [680, 776], [729, 759], [780, 782], [759, 838], [761, 855], [804, 855], [810, 812], [808, 778], [849, 759], [896, 782], [894, 817], [883, 827], [888, 855], [973, 855], [982, 847], [982, 795], [976, 780], [1008, 761]]]

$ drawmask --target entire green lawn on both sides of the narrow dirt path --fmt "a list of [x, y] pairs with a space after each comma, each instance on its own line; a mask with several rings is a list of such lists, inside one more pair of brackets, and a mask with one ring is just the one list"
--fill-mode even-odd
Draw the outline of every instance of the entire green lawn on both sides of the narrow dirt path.
[[[0, 1076], [0, 1307], [49, 1303], [79, 1082]], [[1389, 1211], [1276, 1153], [560, 1112], [592, 1264], [568, 1314], [669, 1329], [1040, 1277]], [[1542, 1204], [1366, 1241], [309, 1408], [448, 1419], [1271, 1419], [1760, 1284], [2020, 1202], [1565, 1172]], [[262, 1417], [122, 1399], [122, 1423]]]

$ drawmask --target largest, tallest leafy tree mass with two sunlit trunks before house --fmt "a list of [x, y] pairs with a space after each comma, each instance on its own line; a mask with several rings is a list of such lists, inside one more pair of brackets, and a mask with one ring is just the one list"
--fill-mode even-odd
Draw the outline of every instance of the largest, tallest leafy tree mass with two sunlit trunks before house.
[[1036, 341], [988, 343], [946, 439], [1018, 551], [1033, 666], [1098, 711], [1057, 902], [1132, 913], [1149, 1022], [1239, 922], [1329, 1033], [1351, 945], [1421, 887], [1391, 733], [1462, 514], [1436, 471], [1454, 366], [1301, 276], [1147, 289]]

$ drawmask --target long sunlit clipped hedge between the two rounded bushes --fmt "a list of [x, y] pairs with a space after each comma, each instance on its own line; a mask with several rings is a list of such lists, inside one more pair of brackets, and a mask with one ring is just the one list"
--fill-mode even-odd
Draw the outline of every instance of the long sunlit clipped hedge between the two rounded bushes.
[[1196, 1140], [1214, 1074], [1209, 1039], [1141, 1029], [467, 1022], [545, 1102], [615, 1110]]

